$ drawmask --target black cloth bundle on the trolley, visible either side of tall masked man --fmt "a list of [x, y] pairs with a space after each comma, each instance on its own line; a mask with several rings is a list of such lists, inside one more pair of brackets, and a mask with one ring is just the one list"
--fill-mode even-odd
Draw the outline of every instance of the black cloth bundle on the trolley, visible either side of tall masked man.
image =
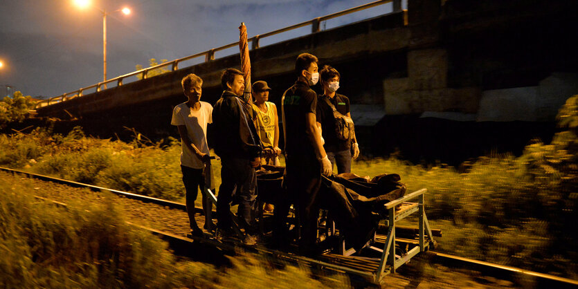
[[[297, 201], [296, 196], [289, 196], [282, 186], [283, 167], [262, 167], [257, 171], [258, 198], [276, 205], [273, 230], [277, 238], [287, 238], [285, 217], [289, 204]], [[383, 205], [404, 196], [406, 186], [399, 180], [398, 174], [381, 174], [372, 179], [351, 173], [323, 176], [315, 203], [327, 209], [347, 244], [359, 250], [372, 238], [379, 219], [388, 216]]]

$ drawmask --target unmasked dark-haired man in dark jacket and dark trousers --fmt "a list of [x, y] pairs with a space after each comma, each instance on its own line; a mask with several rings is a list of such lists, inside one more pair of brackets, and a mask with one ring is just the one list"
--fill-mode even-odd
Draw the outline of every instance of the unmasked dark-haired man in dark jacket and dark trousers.
[[257, 197], [255, 167], [259, 167], [261, 142], [250, 104], [243, 100], [243, 73], [227, 68], [221, 77], [223, 94], [213, 108], [215, 153], [221, 158], [221, 187], [217, 197], [217, 239], [231, 234], [231, 199], [240, 204], [237, 216], [245, 228], [244, 243], [255, 244], [254, 209]]

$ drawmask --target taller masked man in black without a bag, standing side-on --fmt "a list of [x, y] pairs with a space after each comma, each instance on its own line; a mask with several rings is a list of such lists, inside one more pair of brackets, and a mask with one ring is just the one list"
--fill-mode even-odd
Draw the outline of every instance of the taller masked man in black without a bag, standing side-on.
[[287, 240], [285, 218], [289, 203], [293, 201], [299, 211], [302, 225], [300, 250], [304, 254], [315, 253], [318, 207], [316, 196], [321, 183], [321, 174], [331, 174], [331, 162], [323, 149], [320, 131], [316, 125], [317, 94], [309, 86], [319, 79], [318, 59], [302, 53], [296, 59], [297, 81], [283, 93], [282, 120], [285, 136], [286, 176], [285, 183], [289, 200], [276, 205], [276, 241]]

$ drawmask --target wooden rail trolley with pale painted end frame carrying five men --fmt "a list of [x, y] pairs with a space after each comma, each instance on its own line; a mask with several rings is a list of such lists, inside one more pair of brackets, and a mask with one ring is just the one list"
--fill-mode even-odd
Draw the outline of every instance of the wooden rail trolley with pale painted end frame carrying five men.
[[[281, 178], [282, 175], [277, 178], [269, 178], [267, 182], [271, 184], [271, 181], [278, 181], [278, 184], [280, 184]], [[270, 188], [270, 185], [264, 185], [258, 178], [258, 187], [261, 187], [259, 194], [266, 195], [264, 189], [265, 187]], [[441, 232], [439, 230], [431, 230], [428, 223], [425, 209], [426, 192], [427, 189], [419, 189], [394, 201], [385, 203], [382, 209], [387, 212], [386, 217], [381, 218], [377, 230], [361, 249], [348, 248], [344, 239], [339, 238], [341, 232], [338, 227], [336, 227], [335, 222], [331, 221], [330, 218], [327, 219], [325, 225], [318, 225], [319, 233], [337, 237], [337, 245], [334, 245], [329, 252], [318, 254], [315, 257], [305, 257], [298, 254], [296, 246], [292, 246], [289, 250], [284, 251], [271, 250], [267, 248], [266, 245], [257, 245], [255, 249], [271, 254], [278, 259], [306, 263], [321, 269], [355, 274], [372, 283], [380, 283], [384, 276], [395, 273], [397, 268], [408, 263], [410, 259], [420, 252], [426, 252], [433, 248], [433, 246], [435, 246], [433, 239], [434, 234], [435, 236], [441, 236]], [[210, 189], [205, 188], [205, 196], [206, 199], [204, 201], [208, 202], [208, 205], [206, 205], [207, 208], [212, 207], [210, 204], [217, 203], [217, 198]], [[267, 220], [267, 217], [271, 217], [271, 214], [263, 214], [262, 212], [262, 203], [264, 202], [265, 200], [258, 196], [258, 218], [260, 220], [259, 224], [262, 233], [264, 233], [263, 223]], [[213, 213], [210, 209], [205, 212], [206, 223], [208, 225], [213, 224]], [[233, 216], [233, 223], [235, 223], [233, 212], [231, 212], [231, 214]], [[415, 216], [415, 214], [417, 214], [417, 226], [408, 227], [398, 225], [404, 218]], [[294, 212], [291, 215], [294, 216]], [[381, 214], [381, 216], [383, 216], [383, 214]], [[412, 219], [415, 220], [416, 218]], [[293, 218], [292, 222], [293, 224], [297, 224], [298, 220]], [[233, 225], [233, 230], [238, 234], [239, 239], [236, 241], [226, 241], [226, 243], [233, 243], [235, 246], [243, 247], [244, 245], [240, 242], [243, 233], [236, 225]], [[199, 241], [210, 240], [211, 243], [215, 242], [215, 239], [210, 235], [206, 235], [205, 238], [189, 237]]]

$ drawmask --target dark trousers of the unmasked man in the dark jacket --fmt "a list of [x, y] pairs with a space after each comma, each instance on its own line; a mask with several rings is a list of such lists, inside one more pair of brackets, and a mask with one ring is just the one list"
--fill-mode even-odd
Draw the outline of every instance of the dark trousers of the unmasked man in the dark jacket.
[[257, 176], [249, 159], [221, 158], [221, 187], [217, 196], [217, 227], [231, 228], [231, 201], [239, 201], [237, 216], [245, 232], [253, 234]]

